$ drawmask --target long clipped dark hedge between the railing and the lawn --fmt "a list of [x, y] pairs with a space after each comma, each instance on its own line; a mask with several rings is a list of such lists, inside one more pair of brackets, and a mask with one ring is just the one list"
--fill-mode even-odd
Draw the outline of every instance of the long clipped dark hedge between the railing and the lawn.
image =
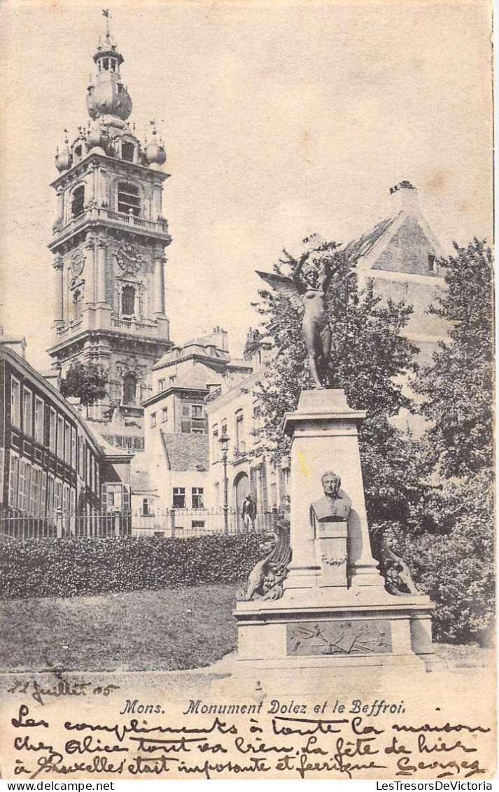
[[[76, 596], [244, 581], [262, 535], [3, 538], [0, 596]], [[267, 551], [268, 552], [268, 551]]]

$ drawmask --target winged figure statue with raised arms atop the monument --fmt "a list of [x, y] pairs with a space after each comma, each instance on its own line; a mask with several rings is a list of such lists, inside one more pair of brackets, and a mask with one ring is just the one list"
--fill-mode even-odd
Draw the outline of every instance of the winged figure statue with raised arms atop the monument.
[[326, 387], [326, 363], [331, 351], [331, 327], [326, 311], [326, 293], [337, 267], [330, 264], [330, 253], [312, 250], [304, 253], [291, 277], [271, 272], [258, 272], [281, 295], [287, 297], [295, 310], [303, 311], [303, 337], [307, 347], [308, 366], [314, 386]]

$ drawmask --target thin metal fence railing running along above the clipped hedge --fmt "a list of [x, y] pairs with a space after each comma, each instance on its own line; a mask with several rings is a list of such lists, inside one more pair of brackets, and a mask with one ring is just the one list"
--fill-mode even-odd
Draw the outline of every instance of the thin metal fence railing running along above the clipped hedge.
[[51, 539], [64, 536], [171, 536], [189, 539], [210, 534], [272, 531], [287, 512], [260, 509], [253, 519], [243, 520], [234, 508], [170, 508], [162, 512], [101, 512], [36, 517], [18, 512], [0, 513], [0, 535], [15, 539]]

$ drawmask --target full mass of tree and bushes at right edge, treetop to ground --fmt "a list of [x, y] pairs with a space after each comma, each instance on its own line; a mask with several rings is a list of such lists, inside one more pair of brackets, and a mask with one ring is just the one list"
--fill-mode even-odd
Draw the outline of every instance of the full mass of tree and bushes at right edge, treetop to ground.
[[[427, 462], [436, 471], [431, 530], [389, 531], [422, 590], [437, 604], [437, 638], [470, 641], [493, 623], [493, 263], [474, 239], [440, 261], [447, 289], [430, 310], [449, 323], [415, 390], [429, 421]], [[422, 529], [422, 530], [421, 530]]]

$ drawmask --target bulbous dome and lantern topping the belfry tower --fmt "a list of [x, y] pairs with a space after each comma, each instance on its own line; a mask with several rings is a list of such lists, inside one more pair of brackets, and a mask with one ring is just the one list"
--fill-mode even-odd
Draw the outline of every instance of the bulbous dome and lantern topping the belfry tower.
[[111, 38], [109, 25], [104, 44], [99, 41], [93, 60], [97, 64], [97, 74], [86, 93], [90, 118], [95, 120], [99, 116], [115, 116], [127, 120], [131, 113], [131, 98], [121, 82], [120, 65], [124, 57]]

